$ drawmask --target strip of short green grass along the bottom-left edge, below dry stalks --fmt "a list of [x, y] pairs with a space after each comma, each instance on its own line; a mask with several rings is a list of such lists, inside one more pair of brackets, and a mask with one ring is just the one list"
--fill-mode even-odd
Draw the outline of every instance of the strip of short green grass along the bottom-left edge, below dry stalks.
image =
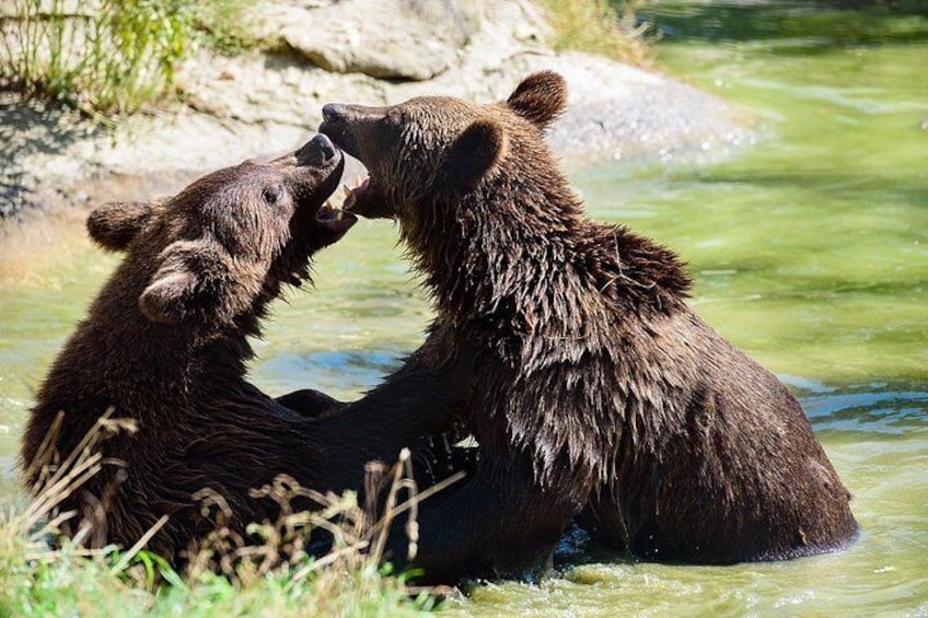
[[414, 616], [432, 603], [410, 597], [371, 561], [234, 579], [211, 571], [181, 578], [146, 552], [123, 558], [115, 549], [49, 549], [30, 540], [21, 514], [8, 514], [0, 520], [0, 616]]

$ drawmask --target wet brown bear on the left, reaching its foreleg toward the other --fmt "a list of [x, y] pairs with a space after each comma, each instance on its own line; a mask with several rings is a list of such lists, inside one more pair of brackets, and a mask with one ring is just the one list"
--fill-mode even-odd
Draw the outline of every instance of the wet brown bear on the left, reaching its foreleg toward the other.
[[[90, 215], [91, 236], [126, 257], [39, 389], [22, 446], [26, 481], [38, 490], [107, 409], [138, 432], [102, 443], [103, 470], [60, 505], [80, 515], [66, 532], [86, 525], [90, 545], [130, 547], [170, 515], [149, 547], [178, 562], [216, 524], [201, 516], [196, 492], [220, 495], [225, 523], [241, 534], [276, 512], [250, 489], [279, 474], [323, 491], [359, 489], [366, 462], [395, 460], [417, 435], [446, 424], [442, 403], [461, 395], [443, 387], [429, 399], [424, 384], [449, 380], [436, 372], [407, 372], [317, 419], [245, 380], [247, 337], [258, 335], [268, 303], [281, 284], [306, 279], [312, 254], [355, 221], [321, 208], [343, 167], [341, 153], [317, 136], [271, 163], [209, 174], [170, 200], [114, 202]], [[411, 397], [429, 413], [408, 413]], [[281, 400], [318, 407], [327, 398]]]

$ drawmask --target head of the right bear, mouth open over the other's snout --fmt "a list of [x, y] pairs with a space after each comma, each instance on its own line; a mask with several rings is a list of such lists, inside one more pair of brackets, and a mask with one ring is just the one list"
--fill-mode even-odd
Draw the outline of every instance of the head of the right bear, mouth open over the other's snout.
[[[320, 132], [368, 168], [369, 177], [344, 208], [396, 218], [406, 229], [436, 209], [453, 212], [478, 189], [491, 190], [501, 174], [515, 190], [562, 185], [543, 131], [566, 103], [564, 79], [542, 71], [506, 101], [488, 105], [443, 96], [390, 107], [328, 104]], [[540, 208], [544, 201], [535, 200]]]

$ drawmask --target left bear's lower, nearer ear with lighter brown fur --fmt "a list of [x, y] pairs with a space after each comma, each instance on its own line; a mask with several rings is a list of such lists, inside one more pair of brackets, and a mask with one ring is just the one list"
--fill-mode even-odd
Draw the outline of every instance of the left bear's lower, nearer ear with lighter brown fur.
[[[245, 272], [234, 275], [234, 260], [213, 241], [176, 241], [159, 259], [161, 267], [139, 296], [142, 313], [152, 322], [177, 324], [198, 310], [225, 322], [260, 291], [259, 279], [256, 285], [245, 284], [236, 290], [239, 279], [247, 282], [255, 278]], [[254, 288], [252, 293], [247, 288]]]

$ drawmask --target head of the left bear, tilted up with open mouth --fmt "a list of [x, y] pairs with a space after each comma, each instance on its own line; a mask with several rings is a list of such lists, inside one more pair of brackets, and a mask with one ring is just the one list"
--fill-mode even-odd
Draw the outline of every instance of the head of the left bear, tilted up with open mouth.
[[208, 174], [176, 196], [109, 202], [88, 219], [91, 237], [125, 252], [123, 295], [160, 324], [222, 326], [260, 314], [281, 283], [309, 278], [309, 258], [357, 220], [333, 209], [344, 159], [325, 136], [269, 163]]

